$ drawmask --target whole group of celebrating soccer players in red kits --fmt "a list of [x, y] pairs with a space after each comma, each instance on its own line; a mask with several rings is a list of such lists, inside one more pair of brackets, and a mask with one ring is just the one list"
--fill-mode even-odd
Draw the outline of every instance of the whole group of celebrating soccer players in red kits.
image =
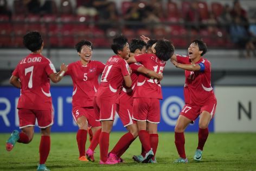
[[[162, 99], [160, 81], [164, 66], [170, 61], [185, 70], [185, 105], [175, 126], [175, 145], [180, 158], [174, 162], [188, 162], [184, 130], [199, 115], [199, 142], [194, 160], [202, 159], [208, 124], [214, 117], [217, 103], [210, 81], [210, 62], [203, 58], [207, 46], [202, 40], [194, 40], [188, 47], [188, 56], [181, 56], [174, 53], [174, 45], [168, 40], [141, 36], [132, 39], [129, 45], [127, 38], [119, 35], [111, 45], [115, 54], [106, 64], [91, 60], [92, 43], [81, 40], [75, 45], [80, 60], [69, 65], [61, 64], [59, 72], [48, 58], [42, 56], [44, 44], [39, 32], [27, 33], [23, 44], [31, 53], [18, 63], [10, 78], [10, 83], [21, 89], [17, 105], [21, 132], [12, 132], [6, 143], [7, 151], [11, 151], [16, 142], [29, 143], [33, 139], [37, 119], [41, 128], [37, 170], [49, 170], [45, 162], [50, 151], [50, 127], [54, 116], [50, 80], [57, 83], [69, 75], [73, 81], [72, 115], [79, 127], [76, 134], [79, 160], [93, 162], [94, 150], [99, 145], [100, 164], [124, 162], [121, 156], [139, 136], [142, 152], [133, 155], [132, 159], [157, 163], [157, 125], [161, 115], [159, 100]], [[128, 132], [108, 151], [116, 113]], [[86, 150], [87, 131], [92, 140]]]

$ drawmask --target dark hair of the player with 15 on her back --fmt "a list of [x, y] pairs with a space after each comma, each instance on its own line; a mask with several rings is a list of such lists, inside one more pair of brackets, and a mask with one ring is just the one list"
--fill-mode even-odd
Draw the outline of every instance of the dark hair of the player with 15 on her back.
[[158, 40], [155, 46], [156, 56], [164, 61], [167, 61], [174, 54], [174, 45], [169, 40]]

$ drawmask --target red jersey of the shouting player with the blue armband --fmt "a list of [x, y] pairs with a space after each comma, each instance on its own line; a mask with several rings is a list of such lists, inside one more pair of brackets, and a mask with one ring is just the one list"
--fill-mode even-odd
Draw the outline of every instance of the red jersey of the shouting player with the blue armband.
[[[188, 56], [176, 55], [177, 62], [181, 64], [191, 64]], [[200, 71], [185, 70], [184, 97], [185, 102], [190, 105], [201, 106], [209, 99], [215, 99], [210, 77], [210, 61], [201, 57], [196, 64], [200, 64]]]

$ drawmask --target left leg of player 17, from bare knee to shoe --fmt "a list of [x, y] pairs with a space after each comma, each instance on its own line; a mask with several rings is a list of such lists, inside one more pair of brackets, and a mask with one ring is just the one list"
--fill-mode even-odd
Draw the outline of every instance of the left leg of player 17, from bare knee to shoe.
[[187, 157], [185, 155], [185, 138], [184, 138], [184, 130], [190, 124], [191, 120], [180, 115], [175, 125], [175, 146], [177, 148], [177, 152], [180, 155], [180, 158], [175, 160], [175, 163], [188, 162]]

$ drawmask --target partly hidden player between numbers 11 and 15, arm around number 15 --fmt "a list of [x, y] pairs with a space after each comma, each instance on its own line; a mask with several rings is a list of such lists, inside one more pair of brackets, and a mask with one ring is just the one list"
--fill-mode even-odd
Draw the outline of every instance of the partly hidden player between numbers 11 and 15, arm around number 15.
[[[146, 43], [140, 39], [132, 39], [130, 43], [130, 51], [135, 54], [145, 53]], [[142, 64], [132, 63], [129, 65], [132, 70], [131, 79], [132, 86], [131, 88], [123, 85], [122, 91], [119, 93], [119, 104], [117, 105], [117, 113], [123, 122], [124, 127], [129, 131], [124, 134], [116, 146], [112, 149], [109, 154], [112, 160], [117, 160], [118, 162], [122, 162], [123, 160], [120, 158], [121, 155], [129, 148], [131, 143], [138, 136], [138, 129], [136, 125], [136, 121], [132, 120], [132, 106], [133, 106], [133, 94], [136, 91], [137, 87], [137, 79], [139, 73], [145, 74], [145, 76], [153, 77], [161, 80], [163, 78], [162, 74], [158, 74], [152, 70], [146, 69]]]

